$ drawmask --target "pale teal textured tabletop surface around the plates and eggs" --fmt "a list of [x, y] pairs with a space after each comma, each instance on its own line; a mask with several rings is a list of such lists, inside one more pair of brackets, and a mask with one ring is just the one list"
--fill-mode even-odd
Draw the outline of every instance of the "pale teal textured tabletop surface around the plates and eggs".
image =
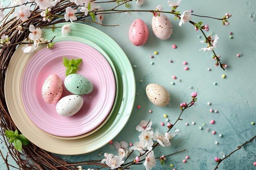
[[[4, 4], [9, 2], [4, 1]], [[146, 3], [137, 7], [135, 2], [130, 3], [130, 9], [155, 9], [158, 4], [162, 4], [164, 11], [170, 11], [167, 0], [146, 0]], [[108, 4], [110, 5], [110, 4]], [[104, 7], [107, 9], [107, 7]], [[162, 166], [157, 162], [153, 170], [213, 170], [216, 166], [214, 157], [227, 155], [244, 141], [256, 135], [256, 126], [251, 122], [256, 122], [256, 1], [255, 0], [183, 0], [179, 11], [192, 9], [194, 14], [207, 15], [222, 18], [225, 13], [231, 13], [229, 26], [222, 26], [220, 20], [210, 18], [200, 18], [192, 16], [194, 22], [202, 21], [209, 24], [210, 31], [218, 34], [217, 55], [221, 55], [222, 63], [228, 64], [228, 68], [223, 71], [220, 67], [214, 66], [211, 59], [212, 53], [198, 51], [205, 44], [199, 42], [203, 38], [198, 38], [202, 34], [195, 31], [193, 25], [186, 23], [180, 27], [179, 20], [173, 20], [173, 15], [167, 15], [173, 23], [173, 35], [168, 40], [159, 40], [151, 29], [151, 13], [120, 13], [105, 15], [103, 24], [120, 24], [120, 26], [106, 27], [97, 24], [90, 24], [97, 29], [108, 34], [124, 50], [134, 68], [136, 78], [136, 99], [135, 106], [128, 121], [128, 124], [113, 141], [127, 141], [134, 143], [139, 141], [139, 132], [135, 126], [142, 119], [153, 120], [152, 127], [162, 131], [167, 130], [165, 126], [160, 126], [160, 122], [165, 121], [164, 114], [168, 115], [171, 123], [177, 119], [181, 102], [189, 102], [190, 94], [198, 92], [198, 102], [195, 107], [191, 107], [182, 114], [183, 121], [179, 121], [175, 128], [181, 133], [175, 137], [169, 148], [158, 147], [155, 149], [155, 156], [167, 155], [172, 152], [186, 149], [177, 155], [169, 157]], [[144, 46], [134, 46], [128, 39], [128, 30], [133, 20], [140, 18], [146, 22], [149, 28], [148, 42]], [[233, 39], [229, 39], [229, 32], [233, 32]], [[171, 45], [176, 44], [177, 49], [172, 49]], [[158, 51], [158, 55], [154, 55]], [[240, 53], [241, 57], [236, 57]], [[155, 57], [152, 59], [150, 55]], [[173, 63], [170, 63], [173, 60]], [[189, 70], [184, 70], [184, 61], [188, 62]], [[150, 62], [154, 62], [153, 65]], [[211, 68], [211, 71], [207, 71]], [[222, 79], [222, 74], [227, 77]], [[173, 80], [172, 75], [180, 82]], [[143, 80], [140, 83], [140, 80]], [[175, 82], [171, 85], [171, 82]], [[213, 85], [216, 82], [217, 85]], [[166, 87], [171, 94], [171, 102], [164, 108], [159, 108], [150, 103], [147, 99], [145, 88], [147, 84], [157, 83]], [[192, 86], [193, 88], [189, 88]], [[207, 102], [211, 102], [208, 106]], [[137, 105], [141, 105], [137, 109]], [[218, 113], [210, 113], [210, 108], [218, 110]], [[153, 110], [153, 113], [148, 113]], [[215, 124], [209, 121], [214, 119]], [[195, 125], [191, 122], [195, 121]], [[185, 123], [189, 126], [185, 126]], [[206, 126], [199, 129], [202, 124]], [[174, 129], [175, 129], [174, 128]], [[210, 130], [207, 131], [207, 128]], [[215, 130], [216, 135], [211, 131]], [[219, 137], [222, 134], [223, 137]], [[215, 144], [218, 141], [219, 144]], [[1, 144], [3, 146], [3, 144]], [[2, 150], [1, 146], [1, 150]], [[6, 148], [3, 149], [6, 153]], [[109, 145], [100, 150], [85, 155], [67, 156], [59, 155], [67, 161], [82, 161], [88, 159], [102, 159], [99, 152], [112, 152]], [[231, 157], [220, 164], [220, 170], [255, 170], [256, 166], [256, 140], [247, 144]], [[189, 155], [186, 163], [182, 160]], [[135, 157], [136, 155], [134, 155]], [[173, 168], [169, 165], [173, 164]], [[95, 167], [85, 167], [95, 168]], [[0, 169], [5, 170], [5, 165], [0, 159]], [[143, 170], [143, 165], [133, 166], [132, 170]]]

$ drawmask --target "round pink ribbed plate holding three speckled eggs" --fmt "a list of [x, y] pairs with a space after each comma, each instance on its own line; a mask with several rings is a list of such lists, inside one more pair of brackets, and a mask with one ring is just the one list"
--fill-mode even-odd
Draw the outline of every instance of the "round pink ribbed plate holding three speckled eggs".
[[[57, 74], [63, 82], [63, 95], [71, 95], [64, 86], [68, 59], [82, 58], [77, 74], [93, 84], [92, 93], [83, 95], [81, 110], [71, 117], [56, 112], [56, 104], [47, 104], [41, 95], [43, 82]], [[80, 42], [57, 42], [54, 49], [44, 48], [31, 57], [22, 78], [22, 100], [29, 119], [41, 130], [56, 136], [73, 137], [96, 128], [109, 114], [115, 99], [115, 77], [108, 61], [96, 49]]]

